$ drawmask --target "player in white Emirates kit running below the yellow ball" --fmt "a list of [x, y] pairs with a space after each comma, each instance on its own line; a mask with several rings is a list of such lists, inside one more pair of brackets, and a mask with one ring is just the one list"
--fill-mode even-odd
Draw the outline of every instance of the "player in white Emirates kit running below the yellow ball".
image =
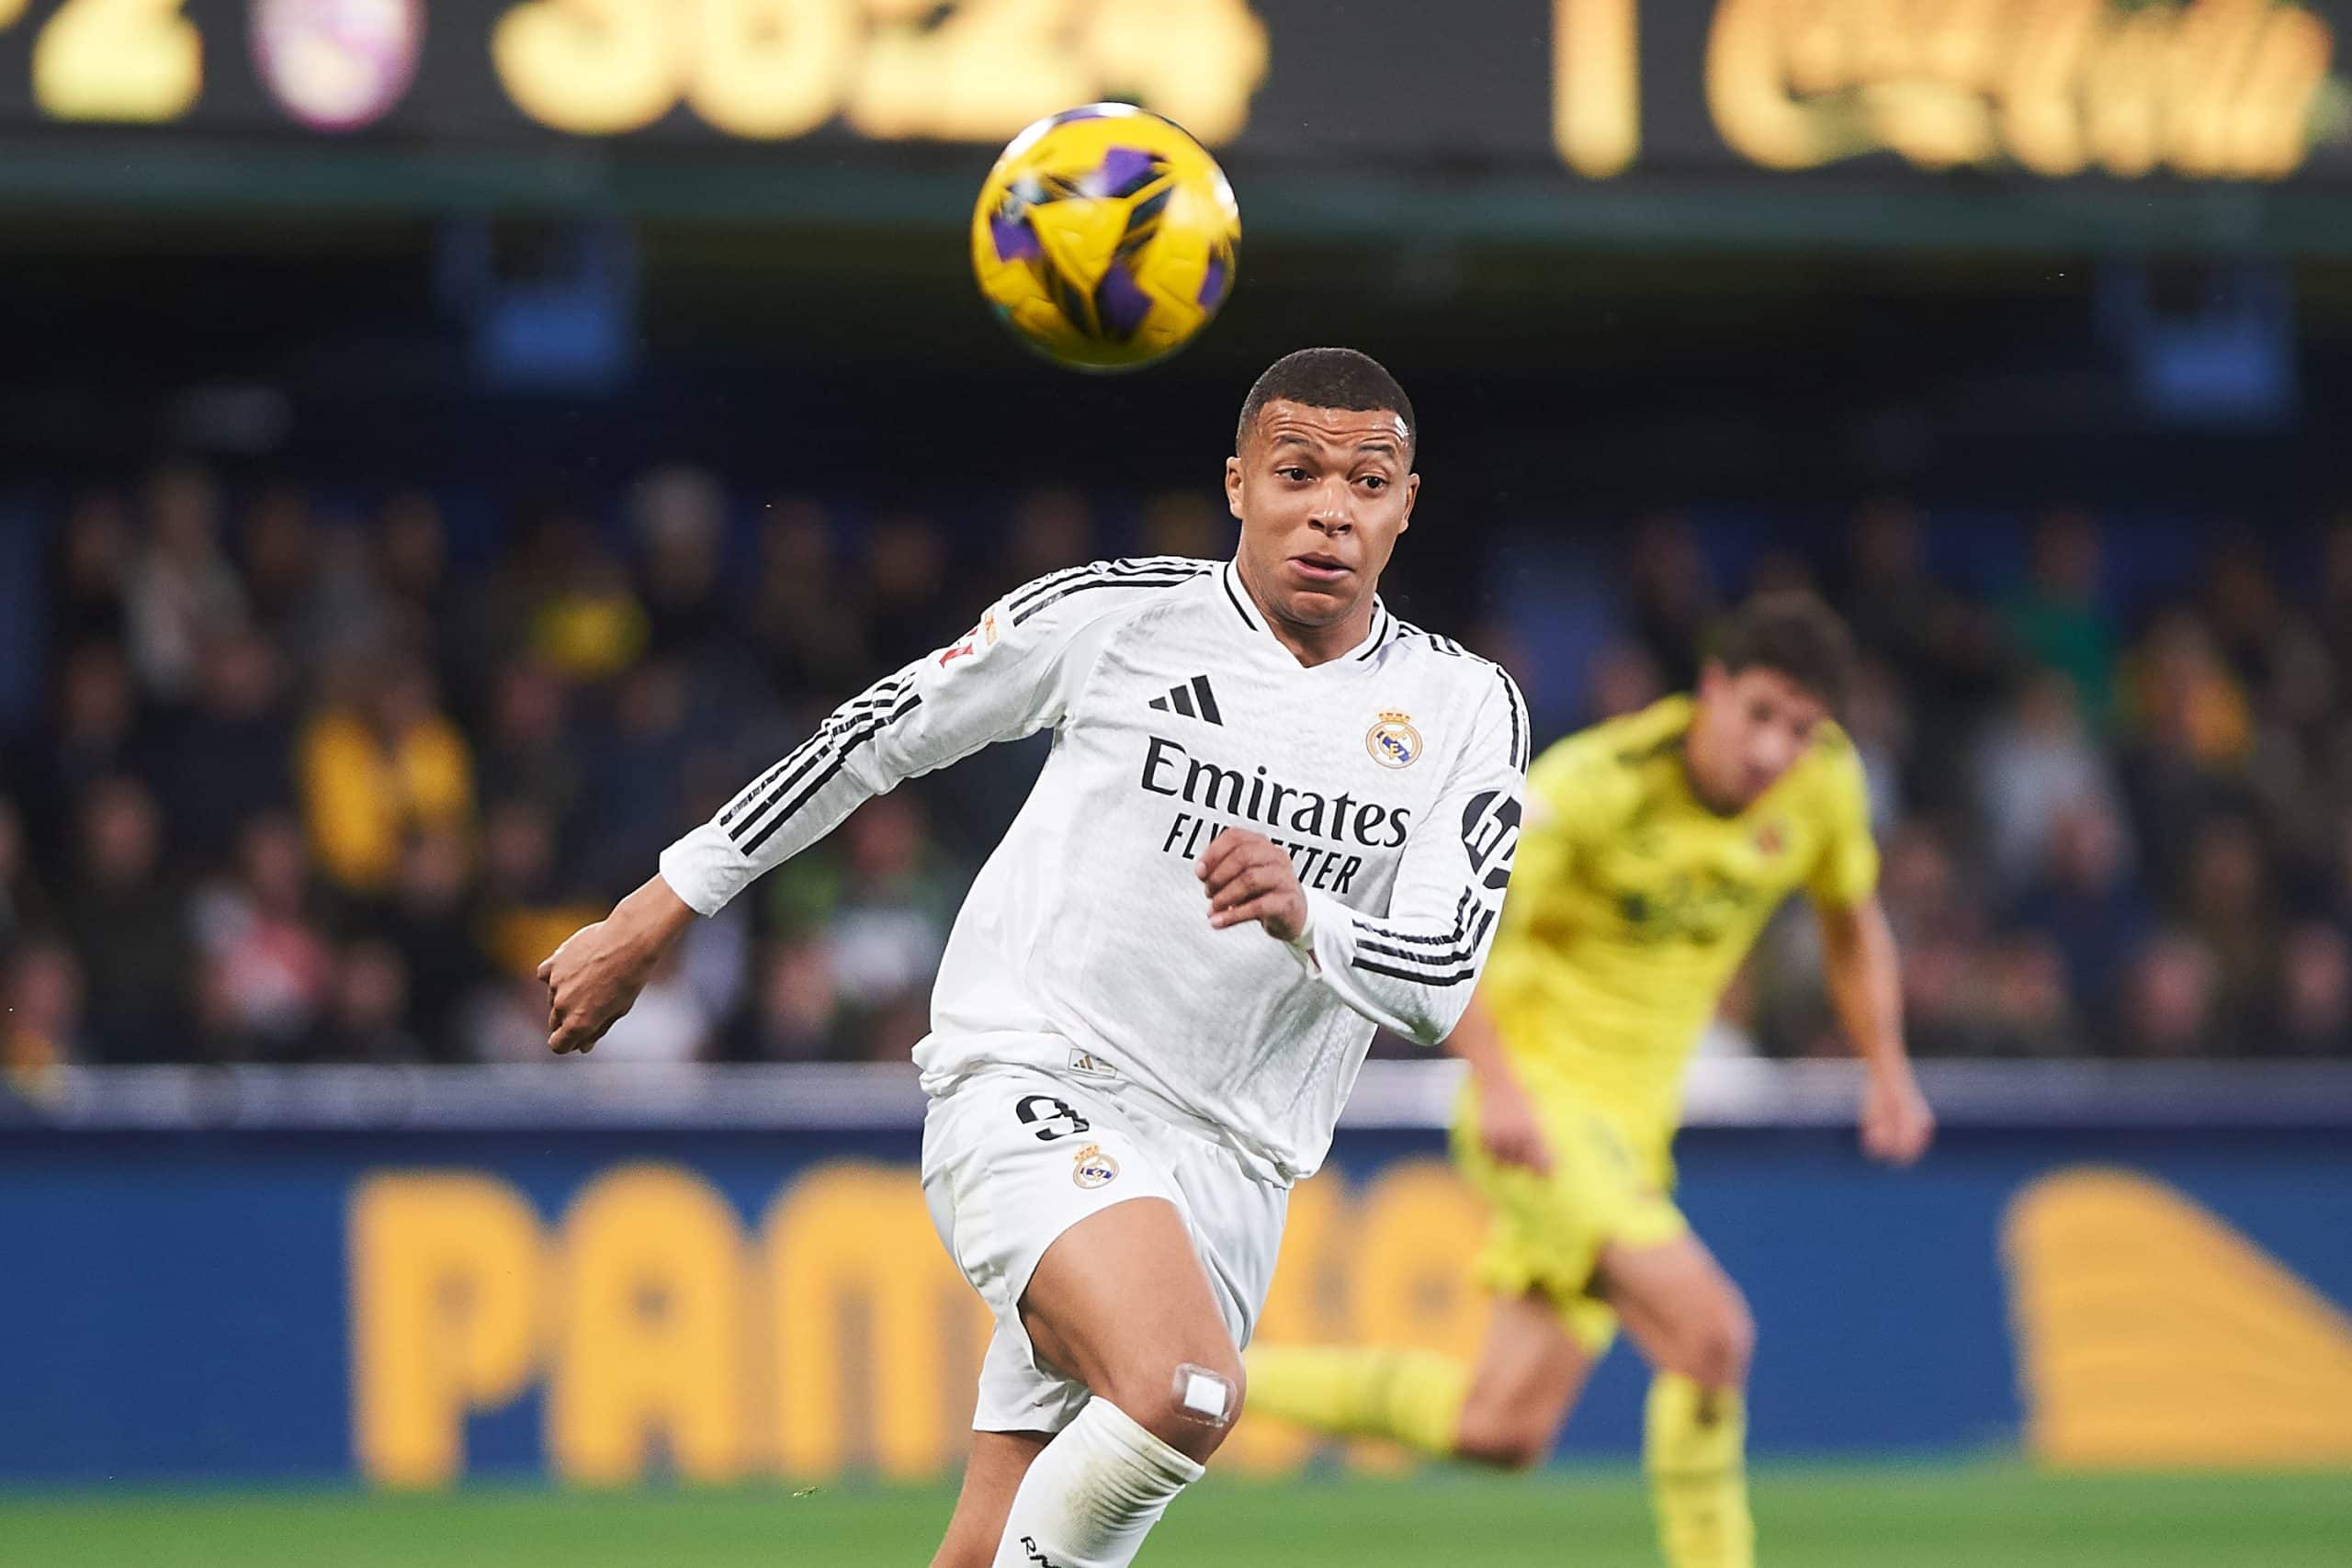
[[541, 966], [586, 1051], [661, 952], [858, 802], [1054, 731], [948, 940], [922, 1185], [988, 1300], [934, 1568], [1112, 1568], [1242, 1408], [1291, 1182], [1374, 1025], [1454, 1027], [1494, 936], [1529, 726], [1496, 665], [1397, 621], [1414, 409], [1308, 348], [1242, 404], [1230, 562], [1044, 576], [842, 705]]

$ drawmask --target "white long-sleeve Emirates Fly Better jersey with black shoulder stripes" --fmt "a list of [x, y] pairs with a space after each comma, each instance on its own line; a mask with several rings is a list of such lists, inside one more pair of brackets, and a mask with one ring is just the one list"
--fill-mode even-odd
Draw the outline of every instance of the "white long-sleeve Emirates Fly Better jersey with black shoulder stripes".
[[[858, 802], [1047, 726], [948, 938], [924, 1088], [990, 1063], [1127, 1079], [1268, 1180], [1310, 1175], [1374, 1025], [1437, 1044], [1470, 1001], [1519, 837], [1517, 686], [1385, 609], [1301, 665], [1232, 564], [1073, 567], [844, 703], [661, 875], [710, 914]], [[1291, 856], [1303, 943], [1209, 926], [1192, 860], [1223, 827]]]

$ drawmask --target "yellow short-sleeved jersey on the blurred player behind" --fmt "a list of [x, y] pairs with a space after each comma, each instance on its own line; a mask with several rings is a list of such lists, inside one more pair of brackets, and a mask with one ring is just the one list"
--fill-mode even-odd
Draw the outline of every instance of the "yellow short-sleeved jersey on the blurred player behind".
[[1606, 1114], [1665, 1164], [1700, 1030], [1792, 891], [1853, 907], [1879, 877], [1860, 759], [1820, 724], [1733, 816], [1691, 790], [1696, 703], [1670, 696], [1555, 743], [1526, 820], [1484, 999], [1536, 1093]]

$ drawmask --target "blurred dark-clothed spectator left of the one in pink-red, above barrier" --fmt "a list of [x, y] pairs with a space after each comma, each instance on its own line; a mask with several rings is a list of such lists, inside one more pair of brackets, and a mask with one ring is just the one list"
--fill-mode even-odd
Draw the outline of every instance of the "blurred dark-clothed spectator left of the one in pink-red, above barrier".
[[188, 1051], [188, 917], [162, 877], [162, 813], [143, 783], [101, 778], [80, 809], [80, 875], [66, 931], [87, 976], [94, 1060], [169, 1060]]

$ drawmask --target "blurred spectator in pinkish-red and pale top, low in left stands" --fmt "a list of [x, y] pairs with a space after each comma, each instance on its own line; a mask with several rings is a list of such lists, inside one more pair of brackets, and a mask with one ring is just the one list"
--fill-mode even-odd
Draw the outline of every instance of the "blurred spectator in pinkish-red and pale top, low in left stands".
[[334, 952], [310, 903], [301, 825], [278, 811], [245, 823], [235, 875], [195, 896], [214, 1020], [256, 1056], [303, 1053], [334, 990]]

